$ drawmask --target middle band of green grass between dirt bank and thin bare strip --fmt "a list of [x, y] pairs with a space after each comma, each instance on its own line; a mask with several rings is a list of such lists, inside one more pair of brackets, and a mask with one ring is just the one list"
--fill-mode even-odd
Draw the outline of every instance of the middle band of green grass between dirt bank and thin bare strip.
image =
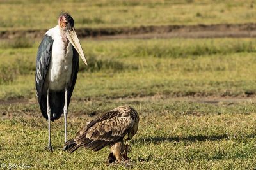
[[[255, 94], [255, 39], [81, 41], [73, 98]], [[1, 48], [0, 99], [35, 99], [31, 48]], [[127, 88], [124, 88], [127, 87]]]

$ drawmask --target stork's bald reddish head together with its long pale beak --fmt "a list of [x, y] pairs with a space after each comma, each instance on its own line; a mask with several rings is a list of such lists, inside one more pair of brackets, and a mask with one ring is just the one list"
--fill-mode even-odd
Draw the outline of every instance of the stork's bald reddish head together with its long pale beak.
[[87, 65], [86, 59], [84, 57], [83, 49], [79, 43], [76, 35], [74, 20], [68, 13], [61, 13], [58, 19], [58, 24], [60, 26], [61, 33], [65, 36], [68, 41], [74, 46], [76, 51], [79, 53], [83, 62]]

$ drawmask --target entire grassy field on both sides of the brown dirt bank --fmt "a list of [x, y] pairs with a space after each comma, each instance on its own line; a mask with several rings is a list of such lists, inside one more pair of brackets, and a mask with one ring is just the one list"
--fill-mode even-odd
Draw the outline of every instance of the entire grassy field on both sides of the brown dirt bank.
[[[49, 29], [63, 10], [76, 27], [248, 23], [256, 17], [255, 1], [2, 0], [0, 31]], [[80, 63], [68, 139], [100, 113], [132, 106], [140, 126], [127, 164], [108, 164], [109, 148], [63, 152], [63, 117], [52, 123], [54, 151], [45, 150], [47, 121], [35, 94], [39, 43], [0, 40], [0, 169], [256, 168], [255, 39], [81, 39], [88, 66]]]

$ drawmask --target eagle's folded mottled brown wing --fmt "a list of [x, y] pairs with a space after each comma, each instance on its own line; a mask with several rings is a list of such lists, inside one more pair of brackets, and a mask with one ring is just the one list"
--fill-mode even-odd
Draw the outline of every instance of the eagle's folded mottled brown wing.
[[74, 140], [92, 150], [100, 150], [114, 141], [120, 141], [130, 131], [134, 120], [130, 117], [113, 117], [81, 129]]

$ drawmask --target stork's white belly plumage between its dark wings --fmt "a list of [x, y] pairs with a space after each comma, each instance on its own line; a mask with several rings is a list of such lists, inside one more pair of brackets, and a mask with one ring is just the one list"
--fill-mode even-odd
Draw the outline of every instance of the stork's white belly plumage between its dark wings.
[[54, 39], [52, 57], [46, 81], [50, 90], [65, 90], [65, 85], [70, 83], [72, 74], [73, 50], [71, 43], [66, 50], [61, 39]]

